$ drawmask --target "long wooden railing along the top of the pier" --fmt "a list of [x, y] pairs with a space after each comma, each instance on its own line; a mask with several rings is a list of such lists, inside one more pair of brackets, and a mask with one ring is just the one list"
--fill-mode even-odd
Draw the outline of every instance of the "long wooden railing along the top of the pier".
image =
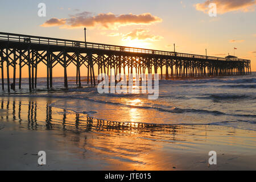
[[102, 49], [108, 51], [121, 51], [121, 52], [133, 52], [133, 53], [146, 53], [151, 55], [163, 55], [163, 56], [175, 56], [175, 57], [187, 57], [193, 59], [207, 59], [207, 60], [219, 60], [219, 61], [250, 61], [246, 59], [226, 59], [224, 57], [215, 56], [203, 56], [194, 55], [189, 53], [170, 52], [170, 51], [159, 51], [154, 49], [144, 49], [136, 47], [125, 47], [115, 46], [110, 44], [100, 44], [92, 42], [82, 42], [68, 39], [56, 39], [47, 38], [42, 36], [22, 35], [22, 34], [11, 34], [6, 32], [0, 32], [0, 41], [4, 40], [7, 42], [20, 42], [20, 43], [33, 43], [51, 46], [65, 46], [65, 47], [77, 47], [77, 48], [91, 48], [91, 49]]

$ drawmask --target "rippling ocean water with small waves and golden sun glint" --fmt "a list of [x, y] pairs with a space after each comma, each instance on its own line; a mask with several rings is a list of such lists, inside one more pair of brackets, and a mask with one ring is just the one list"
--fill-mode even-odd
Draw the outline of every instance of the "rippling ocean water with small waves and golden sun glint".
[[82, 88], [77, 88], [75, 77], [68, 78], [68, 85], [69, 89], [64, 89], [64, 78], [53, 77], [53, 89], [48, 91], [46, 78], [38, 78], [36, 91], [29, 93], [28, 79], [23, 78], [21, 90], [16, 86], [15, 92], [0, 93], [11, 97], [55, 98], [52, 107], [106, 121], [256, 130], [255, 72], [244, 76], [159, 80], [156, 100], [148, 100], [148, 94], [136, 92], [100, 94], [97, 86], [87, 84], [85, 77]]

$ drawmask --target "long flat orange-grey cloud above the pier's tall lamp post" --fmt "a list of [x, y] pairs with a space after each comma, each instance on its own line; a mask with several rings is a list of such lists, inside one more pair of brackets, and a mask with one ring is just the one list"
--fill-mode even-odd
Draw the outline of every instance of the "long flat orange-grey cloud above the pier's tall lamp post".
[[162, 22], [161, 18], [151, 15], [150, 13], [139, 15], [131, 13], [121, 15], [115, 15], [113, 13], [101, 13], [93, 16], [92, 13], [84, 11], [82, 13], [69, 16], [70, 18], [51, 18], [42, 24], [42, 26], [49, 27], [63, 25], [64, 28], [99, 26], [107, 29], [116, 29], [121, 26], [128, 26], [132, 24], [152, 24], [156, 22]]

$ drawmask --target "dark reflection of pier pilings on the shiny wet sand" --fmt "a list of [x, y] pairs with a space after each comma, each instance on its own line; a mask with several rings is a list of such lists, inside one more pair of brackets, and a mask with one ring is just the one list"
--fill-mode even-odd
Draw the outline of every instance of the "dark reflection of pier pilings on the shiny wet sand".
[[[11, 102], [11, 103], [10, 103]], [[24, 102], [24, 103], [23, 103]], [[23, 104], [22, 104], [23, 103]], [[63, 130], [73, 130], [76, 131], [119, 131], [119, 130], [127, 130], [127, 131], [141, 131], [141, 132], [148, 132], [152, 131], [160, 131], [164, 128], [172, 129], [172, 132], [175, 134], [177, 129], [181, 129], [181, 126], [175, 125], [155, 125], [151, 123], [134, 123], [134, 122], [115, 122], [115, 121], [106, 121], [104, 119], [97, 119], [89, 117], [86, 114], [80, 113], [71, 113], [69, 110], [63, 109], [58, 113], [52, 113], [52, 110], [61, 110], [51, 106], [51, 101], [48, 101], [45, 105], [44, 110], [46, 113], [40, 115], [40, 119], [37, 119], [37, 110], [38, 110], [37, 101], [30, 100], [30, 101], [1, 101], [1, 109], [2, 113], [6, 111], [10, 113], [10, 110], [13, 110], [11, 114], [13, 115], [12, 119], [14, 121], [18, 121], [20, 125], [27, 124], [27, 129], [30, 130], [37, 130], [38, 127], [45, 126], [46, 130], [51, 129], [63, 129]], [[6, 108], [6, 109], [4, 109]], [[40, 108], [43, 109], [43, 108]], [[22, 110], [24, 113], [22, 113]], [[18, 114], [16, 114], [18, 113]], [[27, 117], [24, 117], [24, 114], [27, 114]], [[41, 113], [40, 113], [41, 114]], [[57, 119], [54, 119], [54, 115]], [[68, 117], [67, 117], [68, 115]], [[24, 118], [23, 118], [23, 117]], [[10, 115], [6, 115], [7, 121], [9, 120]], [[3, 118], [3, 116], [1, 116]], [[44, 118], [44, 119], [42, 119]], [[69, 128], [69, 129], [68, 129]]]

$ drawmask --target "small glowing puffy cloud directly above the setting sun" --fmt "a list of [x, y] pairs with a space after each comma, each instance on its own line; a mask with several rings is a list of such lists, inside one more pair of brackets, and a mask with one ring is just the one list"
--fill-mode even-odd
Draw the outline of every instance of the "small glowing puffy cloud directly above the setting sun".
[[163, 39], [162, 36], [150, 34], [150, 31], [143, 28], [137, 28], [125, 35], [122, 40], [143, 40], [143, 41], [159, 41]]

